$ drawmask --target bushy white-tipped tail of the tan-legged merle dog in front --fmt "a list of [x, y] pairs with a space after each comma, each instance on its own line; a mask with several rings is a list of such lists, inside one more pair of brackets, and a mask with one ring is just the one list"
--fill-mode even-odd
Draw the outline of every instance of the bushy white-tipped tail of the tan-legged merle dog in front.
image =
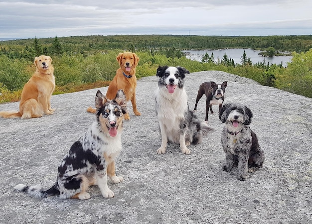
[[14, 187], [15, 190], [25, 192], [26, 194], [35, 198], [47, 198], [53, 195], [59, 195], [60, 191], [57, 188], [57, 184], [53, 185], [50, 189], [44, 190], [40, 186], [26, 186], [18, 184]]

